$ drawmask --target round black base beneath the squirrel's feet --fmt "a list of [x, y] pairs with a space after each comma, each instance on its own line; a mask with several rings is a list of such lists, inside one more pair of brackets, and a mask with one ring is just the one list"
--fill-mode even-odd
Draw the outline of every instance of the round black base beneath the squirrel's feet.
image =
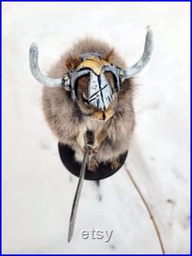
[[[58, 151], [63, 165], [68, 169], [73, 175], [79, 177], [81, 171], [81, 164], [78, 161], [74, 160], [74, 150], [70, 148], [68, 145], [63, 145], [60, 142], [58, 143]], [[89, 171], [86, 169], [84, 179], [91, 181], [98, 181], [103, 178], [108, 178], [111, 175], [114, 175], [122, 165], [124, 165], [124, 161], [127, 158], [127, 151], [119, 156], [120, 164], [119, 167], [115, 170], [111, 169], [111, 165], [101, 163], [96, 171]]]

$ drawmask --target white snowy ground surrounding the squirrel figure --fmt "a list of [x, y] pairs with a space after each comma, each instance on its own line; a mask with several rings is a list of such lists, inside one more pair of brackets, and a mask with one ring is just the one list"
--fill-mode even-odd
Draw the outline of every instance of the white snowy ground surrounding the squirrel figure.
[[[125, 168], [84, 181], [74, 236], [68, 221], [78, 178], [58, 156], [28, 64], [31, 42], [45, 73], [84, 35], [140, 58], [146, 27], [154, 53], [137, 75], [137, 126], [127, 168], [144, 194], [167, 254], [190, 253], [190, 3], [2, 2], [2, 252], [161, 254], [157, 234]], [[99, 195], [101, 201], [98, 200]], [[111, 241], [82, 230], [113, 230]]]

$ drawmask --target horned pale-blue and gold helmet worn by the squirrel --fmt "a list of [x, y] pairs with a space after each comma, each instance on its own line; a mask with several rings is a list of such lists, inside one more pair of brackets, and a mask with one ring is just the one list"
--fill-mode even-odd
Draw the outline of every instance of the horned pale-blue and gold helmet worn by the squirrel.
[[153, 33], [149, 28], [145, 39], [144, 52], [141, 58], [131, 68], [123, 70], [102, 60], [101, 55], [95, 52], [88, 52], [80, 56], [81, 64], [74, 71], [68, 71], [63, 78], [48, 78], [43, 75], [38, 67], [38, 45], [33, 43], [29, 50], [29, 62], [32, 75], [47, 87], [64, 87], [71, 91], [71, 98], [75, 101], [76, 81], [84, 75], [89, 75], [88, 102], [101, 111], [108, 109], [113, 100], [113, 91], [105, 78], [104, 72], [110, 71], [114, 76], [115, 90], [121, 89], [121, 84], [127, 78], [132, 78], [140, 73], [147, 65], [153, 52]]

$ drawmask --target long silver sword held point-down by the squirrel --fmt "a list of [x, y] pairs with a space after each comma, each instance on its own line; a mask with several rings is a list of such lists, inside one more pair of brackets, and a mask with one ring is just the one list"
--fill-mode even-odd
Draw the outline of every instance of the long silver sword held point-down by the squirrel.
[[69, 228], [68, 228], [68, 243], [71, 241], [71, 238], [73, 236], [74, 223], [75, 223], [75, 218], [76, 218], [77, 211], [78, 211], [78, 202], [79, 202], [79, 198], [81, 195], [81, 189], [82, 189], [82, 185], [83, 185], [83, 181], [84, 181], [84, 174], [85, 174], [86, 166], [88, 165], [88, 155], [90, 154], [90, 151], [93, 148], [93, 144], [94, 144], [94, 134], [92, 131], [88, 130], [84, 134], [85, 152], [84, 152], [84, 158], [83, 158], [83, 162], [81, 165], [81, 171], [80, 171], [80, 175], [79, 175], [79, 179], [78, 179], [78, 187], [76, 188], [76, 191], [74, 194], [74, 201], [73, 201], [73, 205], [72, 205], [72, 209], [71, 209], [71, 217], [70, 217]]

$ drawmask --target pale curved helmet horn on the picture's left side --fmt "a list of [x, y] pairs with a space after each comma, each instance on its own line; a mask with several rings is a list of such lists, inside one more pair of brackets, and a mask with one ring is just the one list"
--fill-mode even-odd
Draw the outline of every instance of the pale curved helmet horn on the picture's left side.
[[41, 84], [48, 87], [59, 87], [62, 86], [62, 78], [48, 78], [43, 75], [38, 68], [38, 45], [32, 43], [29, 49], [29, 62], [31, 73]]

